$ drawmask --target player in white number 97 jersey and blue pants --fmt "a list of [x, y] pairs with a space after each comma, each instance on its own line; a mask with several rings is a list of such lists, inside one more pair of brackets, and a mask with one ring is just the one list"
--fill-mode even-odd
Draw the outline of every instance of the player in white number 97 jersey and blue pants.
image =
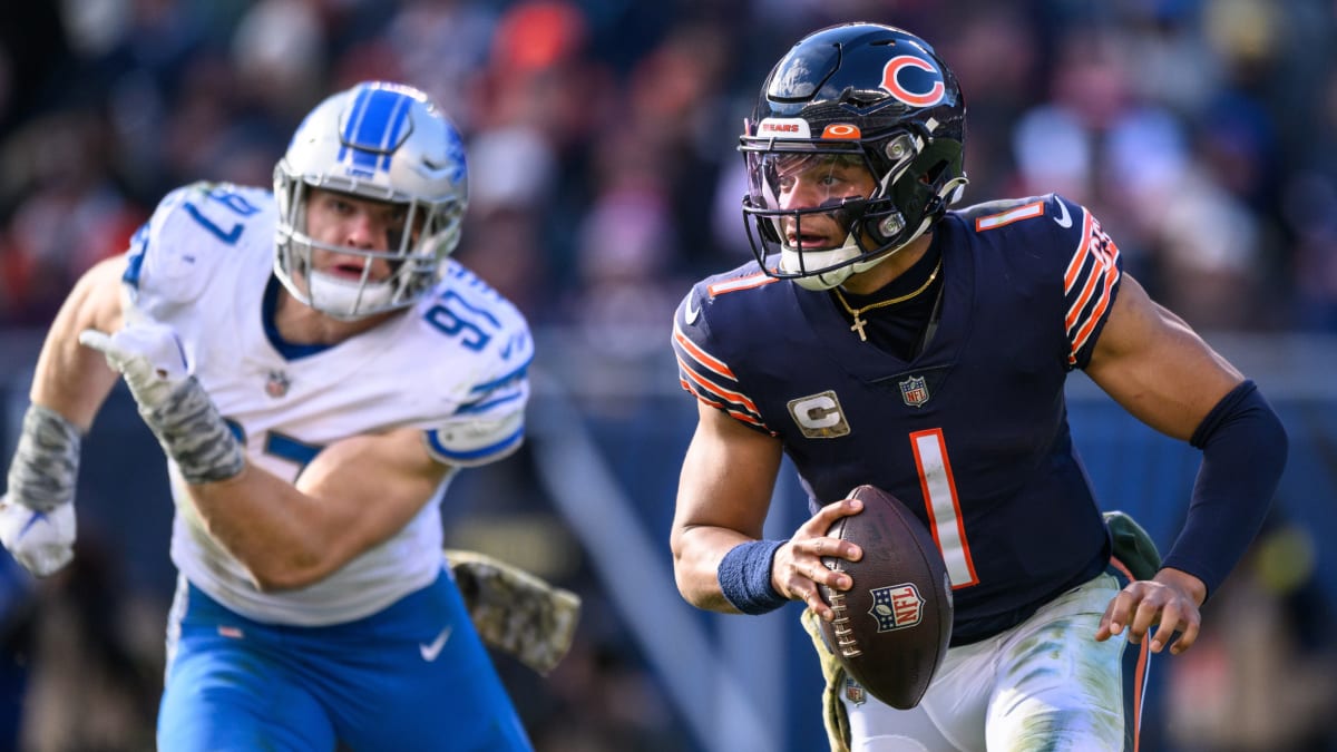
[[159, 748], [529, 748], [443, 569], [445, 487], [520, 444], [532, 357], [449, 258], [467, 197], [441, 111], [358, 84], [273, 194], [171, 193], [57, 314], [0, 539], [39, 575], [70, 559], [80, 435], [123, 376], [176, 503]]

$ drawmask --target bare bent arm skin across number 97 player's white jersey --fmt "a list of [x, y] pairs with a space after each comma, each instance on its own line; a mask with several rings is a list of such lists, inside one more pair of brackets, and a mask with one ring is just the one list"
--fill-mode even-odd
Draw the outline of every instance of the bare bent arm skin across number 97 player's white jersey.
[[422, 431], [353, 436], [316, 456], [295, 486], [247, 463], [227, 480], [191, 486], [210, 535], [262, 590], [318, 582], [389, 539], [436, 492], [449, 467]]

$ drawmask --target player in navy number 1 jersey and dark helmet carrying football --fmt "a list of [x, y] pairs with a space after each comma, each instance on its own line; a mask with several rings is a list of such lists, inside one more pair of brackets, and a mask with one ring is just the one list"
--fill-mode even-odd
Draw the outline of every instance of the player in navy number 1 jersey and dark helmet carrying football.
[[[933, 531], [952, 646], [910, 711], [832, 676], [833, 747], [1132, 749], [1130, 680], [1144, 673], [1123, 653], [1194, 644], [1199, 606], [1267, 510], [1286, 436], [1254, 384], [1123, 273], [1083, 206], [1050, 194], [949, 211], [964, 116], [943, 60], [892, 27], [818, 31], [771, 71], [741, 143], [755, 262], [697, 284], [674, 321], [699, 400], [678, 587], [703, 609], [796, 599], [830, 620], [818, 585], [850, 581], [820, 557], [861, 551], [825, 531], [872, 483]], [[1185, 527], [1146, 581], [1111, 566], [1067, 424], [1074, 368], [1202, 450]], [[812, 516], [761, 541], [782, 454]]]

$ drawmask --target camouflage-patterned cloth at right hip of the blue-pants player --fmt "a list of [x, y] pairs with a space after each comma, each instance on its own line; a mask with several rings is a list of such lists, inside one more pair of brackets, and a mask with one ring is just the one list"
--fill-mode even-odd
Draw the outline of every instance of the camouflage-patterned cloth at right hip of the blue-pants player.
[[544, 676], [566, 657], [579, 595], [485, 554], [447, 549], [445, 558], [483, 642]]

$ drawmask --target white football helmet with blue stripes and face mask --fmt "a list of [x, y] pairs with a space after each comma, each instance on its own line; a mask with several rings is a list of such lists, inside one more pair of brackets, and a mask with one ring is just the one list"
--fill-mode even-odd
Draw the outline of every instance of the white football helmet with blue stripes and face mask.
[[[306, 227], [312, 187], [402, 205], [410, 230], [386, 250], [316, 241]], [[274, 167], [274, 273], [297, 300], [342, 320], [405, 308], [432, 289], [460, 242], [468, 205], [464, 140], [424, 92], [360, 83], [321, 102], [298, 126]], [[362, 257], [361, 280], [314, 270], [312, 249]], [[390, 262], [389, 278], [370, 280], [376, 258]]]

